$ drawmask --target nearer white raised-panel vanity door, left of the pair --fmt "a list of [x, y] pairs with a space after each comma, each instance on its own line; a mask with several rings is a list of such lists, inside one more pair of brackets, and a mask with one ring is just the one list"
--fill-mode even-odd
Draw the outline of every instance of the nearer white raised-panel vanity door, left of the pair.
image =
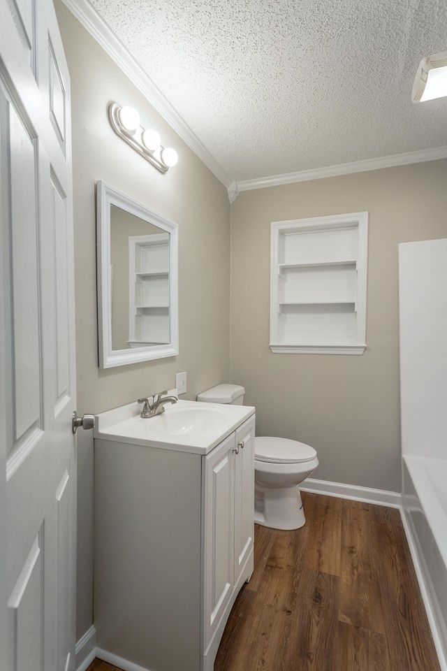
[[205, 457], [205, 649], [233, 595], [235, 434]]

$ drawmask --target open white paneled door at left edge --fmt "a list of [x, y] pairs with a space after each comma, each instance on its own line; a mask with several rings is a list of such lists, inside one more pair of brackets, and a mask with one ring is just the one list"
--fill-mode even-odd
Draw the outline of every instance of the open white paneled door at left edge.
[[0, 0], [0, 130], [0, 668], [68, 671], [75, 664], [71, 127], [51, 0]]

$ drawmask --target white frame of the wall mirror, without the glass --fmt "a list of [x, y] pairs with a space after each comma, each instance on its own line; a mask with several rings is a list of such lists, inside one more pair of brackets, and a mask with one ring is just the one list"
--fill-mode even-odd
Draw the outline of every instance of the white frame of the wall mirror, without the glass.
[[[97, 204], [97, 261], [98, 261], [98, 345], [99, 367], [112, 368], [129, 363], [163, 359], [179, 353], [178, 308], [178, 226], [145, 205], [129, 198], [105, 182], [96, 183]], [[169, 238], [169, 315], [170, 342], [131, 349], [112, 349], [112, 301], [110, 295], [110, 207], [115, 205], [149, 224], [170, 233]]]

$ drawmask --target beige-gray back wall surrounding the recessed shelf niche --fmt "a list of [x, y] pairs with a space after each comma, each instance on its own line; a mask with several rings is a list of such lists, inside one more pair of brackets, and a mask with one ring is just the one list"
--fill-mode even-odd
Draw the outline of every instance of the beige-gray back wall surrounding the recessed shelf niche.
[[[367, 350], [272, 354], [270, 222], [369, 212]], [[318, 451], [313, 477], [400, 491], [397, 245], [447, 237], [447, 161], [242, 192], [231, 208], [231, 380], [256, 434]]]

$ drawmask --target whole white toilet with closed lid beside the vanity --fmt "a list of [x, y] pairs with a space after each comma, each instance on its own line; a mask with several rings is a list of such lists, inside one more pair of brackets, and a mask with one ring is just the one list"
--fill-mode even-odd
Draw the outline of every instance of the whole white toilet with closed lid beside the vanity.
[[[242, 405], [244, 387], [218, 384], [198, 394], [205, 403]], [[298, 529], [305, 524], [301, 484], [318, 466], [316, 450], [288, 438], [255, 438], [254, 521], [272, 529]]]

